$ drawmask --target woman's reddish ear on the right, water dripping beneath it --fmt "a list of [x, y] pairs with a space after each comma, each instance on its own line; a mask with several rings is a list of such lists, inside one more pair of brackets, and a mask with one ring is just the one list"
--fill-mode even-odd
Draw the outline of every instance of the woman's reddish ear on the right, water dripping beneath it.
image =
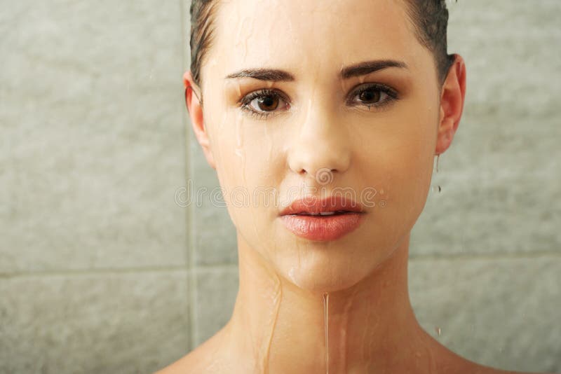
[[440, 122], [436, 139], [435, 155], [444, 153], [460, 123], [466, 97], [466, 64], [460, 55], [454, 55], [454, 63], [442, 84], [440, 93]]

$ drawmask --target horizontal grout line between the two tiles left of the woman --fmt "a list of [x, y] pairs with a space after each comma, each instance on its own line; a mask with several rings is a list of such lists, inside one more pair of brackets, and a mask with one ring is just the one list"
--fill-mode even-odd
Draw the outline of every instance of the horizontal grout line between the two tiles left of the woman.
[[16, 271], [0, 272], [0, 278], [25, 278], [25, 277], [68, 277], [68, 276], [90, 276], [90, 275], [123, 275], [143, 272], [181, 272], [186, 271], [184, 266], [162, 266], [144, 268], [98, 268], [79, 270], [38, 270], [38, 271]]

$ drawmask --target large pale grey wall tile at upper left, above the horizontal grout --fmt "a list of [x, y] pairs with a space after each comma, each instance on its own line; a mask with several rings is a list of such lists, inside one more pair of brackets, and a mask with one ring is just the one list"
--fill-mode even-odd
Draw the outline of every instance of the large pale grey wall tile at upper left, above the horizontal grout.
[[179, 1], [0, 16], [0, 272], [184, 265]]

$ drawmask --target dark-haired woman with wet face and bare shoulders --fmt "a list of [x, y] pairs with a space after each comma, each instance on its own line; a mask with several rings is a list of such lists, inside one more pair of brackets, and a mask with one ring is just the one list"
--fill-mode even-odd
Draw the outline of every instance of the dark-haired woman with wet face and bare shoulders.
[[231, 320], [161, 373], [505, 373], [417, 323], [410, 231], [466, 68], [442, 0], [194, 0], [191, 123], [237, 230]]

